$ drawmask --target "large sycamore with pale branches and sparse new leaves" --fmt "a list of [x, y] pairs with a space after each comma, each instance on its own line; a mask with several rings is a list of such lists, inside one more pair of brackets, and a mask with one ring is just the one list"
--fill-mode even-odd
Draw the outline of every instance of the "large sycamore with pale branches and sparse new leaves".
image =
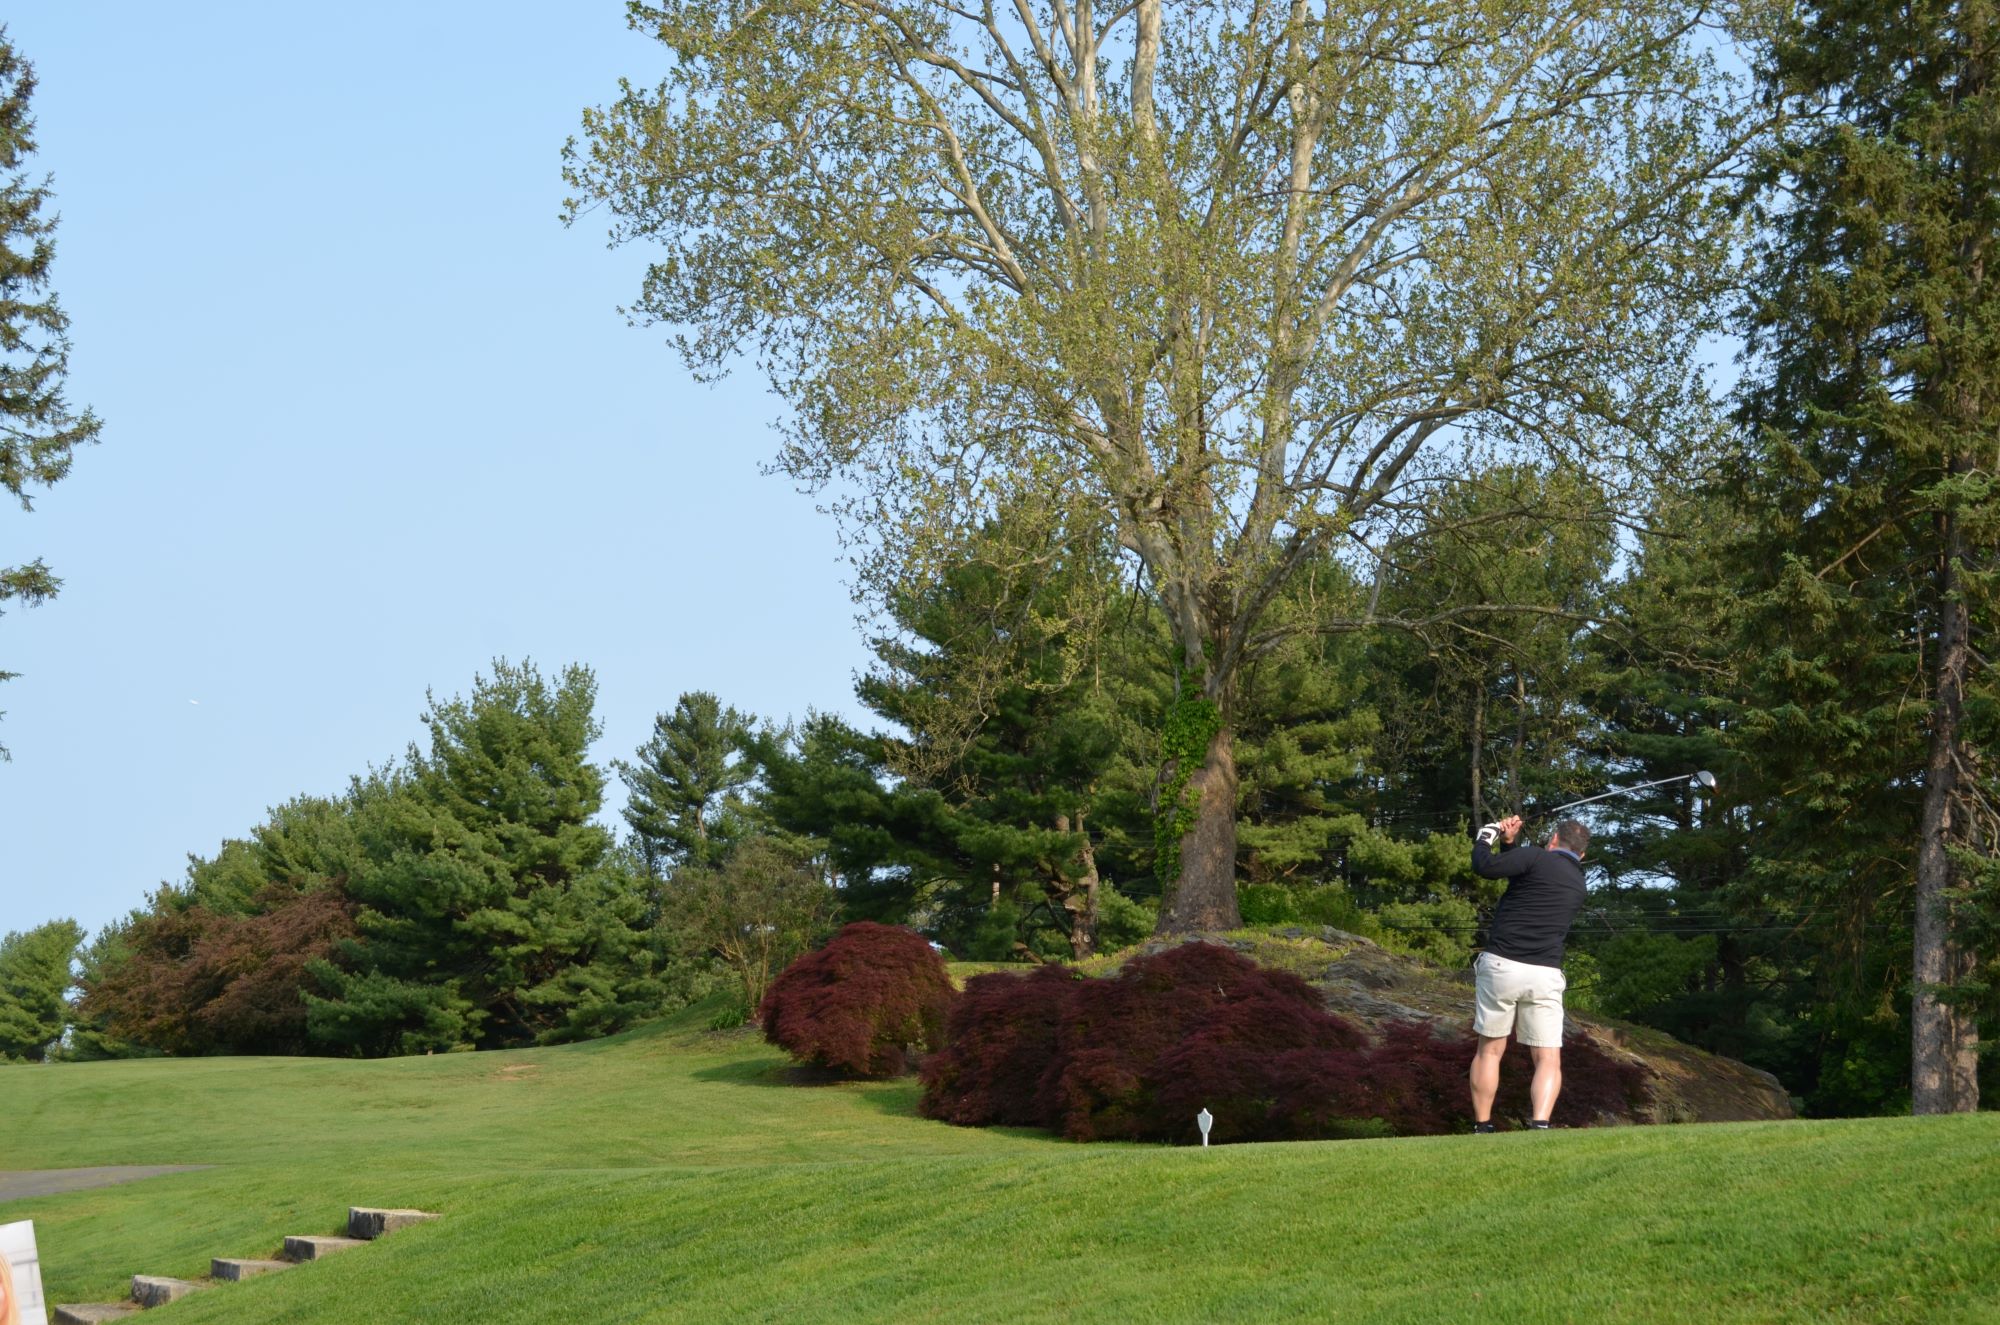
[[[632, 308], [788, 406], [876, 602], [1002, 508], [1102, 530], [1172, 624], [1162, 929], [1232, 925], [1240, 679], [1498, 452], [1630, 494], [1692, 368], [1746, 128], [1682, 0], [686, 0], [568, 148]], [[1614, 518], [1616, 510], [1572, 512]], [[1486, 512], [1484, 518], [1494, 518]], [[1030, 540], [1032, 542], [1032, 540]], [[1470, 604], [1390, 624], [1476, 624]]]

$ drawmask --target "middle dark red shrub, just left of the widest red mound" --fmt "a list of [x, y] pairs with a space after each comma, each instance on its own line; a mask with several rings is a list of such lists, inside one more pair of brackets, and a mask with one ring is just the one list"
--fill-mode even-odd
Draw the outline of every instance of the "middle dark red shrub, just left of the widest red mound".
[[974, 975], [952, 1005], [946, 1049], [924, 1063], [924, 1117], [960, 1127], [1056, 1127], [1042, 1075], [1078, 979], [1064, 967]]

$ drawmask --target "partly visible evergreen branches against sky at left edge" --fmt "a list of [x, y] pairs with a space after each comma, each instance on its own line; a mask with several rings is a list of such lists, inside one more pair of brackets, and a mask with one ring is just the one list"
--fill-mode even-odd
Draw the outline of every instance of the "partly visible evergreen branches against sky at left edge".
[[[34, 66], [0, 26], [0, 486], [22, 510], [34, 488], [62, 480], [78, 446], [102, 424], [64, 398], [70, 316], [48, 288], [56, 262], [56, 216], [44, 216], [48, 178], [28, 174], [34, 156]], [[0, 566], [0, 606], [56, 596], [62, 580], [42, 560]], [[6, 681], [12, 673], [0, 673]], [[6, 747], [0, 747], [0, 759]]]

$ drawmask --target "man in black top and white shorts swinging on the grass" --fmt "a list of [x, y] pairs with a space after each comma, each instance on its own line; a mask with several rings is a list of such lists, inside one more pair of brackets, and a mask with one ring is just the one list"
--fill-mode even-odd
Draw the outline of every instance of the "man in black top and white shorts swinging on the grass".
[[1472, 843], [1472, 873], [1512, 879], [1486, 931], [1486, 951], [1472, 963], [1478, 991], [1472, 1029], [1480, 1037], [1472, 1055], [1472, 1131], [1494, 1129], [1500, 1055], [1510, 1031], [1534, 1057], [1528, 1127], [1548, 1127], [1562, 1091], [1562, 941], [1584, 905], [1590, 829], [1564, 819], [1548, 847], [1496, 851], [1496, 843], [1512, 847], [1518, 835], [1520, 815], [1514, 815], [1486, 825]]

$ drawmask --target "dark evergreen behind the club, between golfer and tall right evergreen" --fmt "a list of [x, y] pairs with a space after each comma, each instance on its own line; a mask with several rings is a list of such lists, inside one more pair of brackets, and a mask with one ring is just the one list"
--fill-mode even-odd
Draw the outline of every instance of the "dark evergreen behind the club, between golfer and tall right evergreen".
[[1784, 789], [1738, 749], [1744, 648], [1728, 548], [1744, 512], [1726, 490], [1664, 498], [1610, 586], [1594, 632], [1590, 707], [1610, 781], [1710, 769], [1588, 811], [1606, 877], [1572, 945], [1602, 971], [1600, 1007], [1776, 1073], [1810, 1113], [1850, 1113], [1852, 1013], [1880, 983], [1844, 965], [1842, 935], [1750, 875], [1752, 823]]

